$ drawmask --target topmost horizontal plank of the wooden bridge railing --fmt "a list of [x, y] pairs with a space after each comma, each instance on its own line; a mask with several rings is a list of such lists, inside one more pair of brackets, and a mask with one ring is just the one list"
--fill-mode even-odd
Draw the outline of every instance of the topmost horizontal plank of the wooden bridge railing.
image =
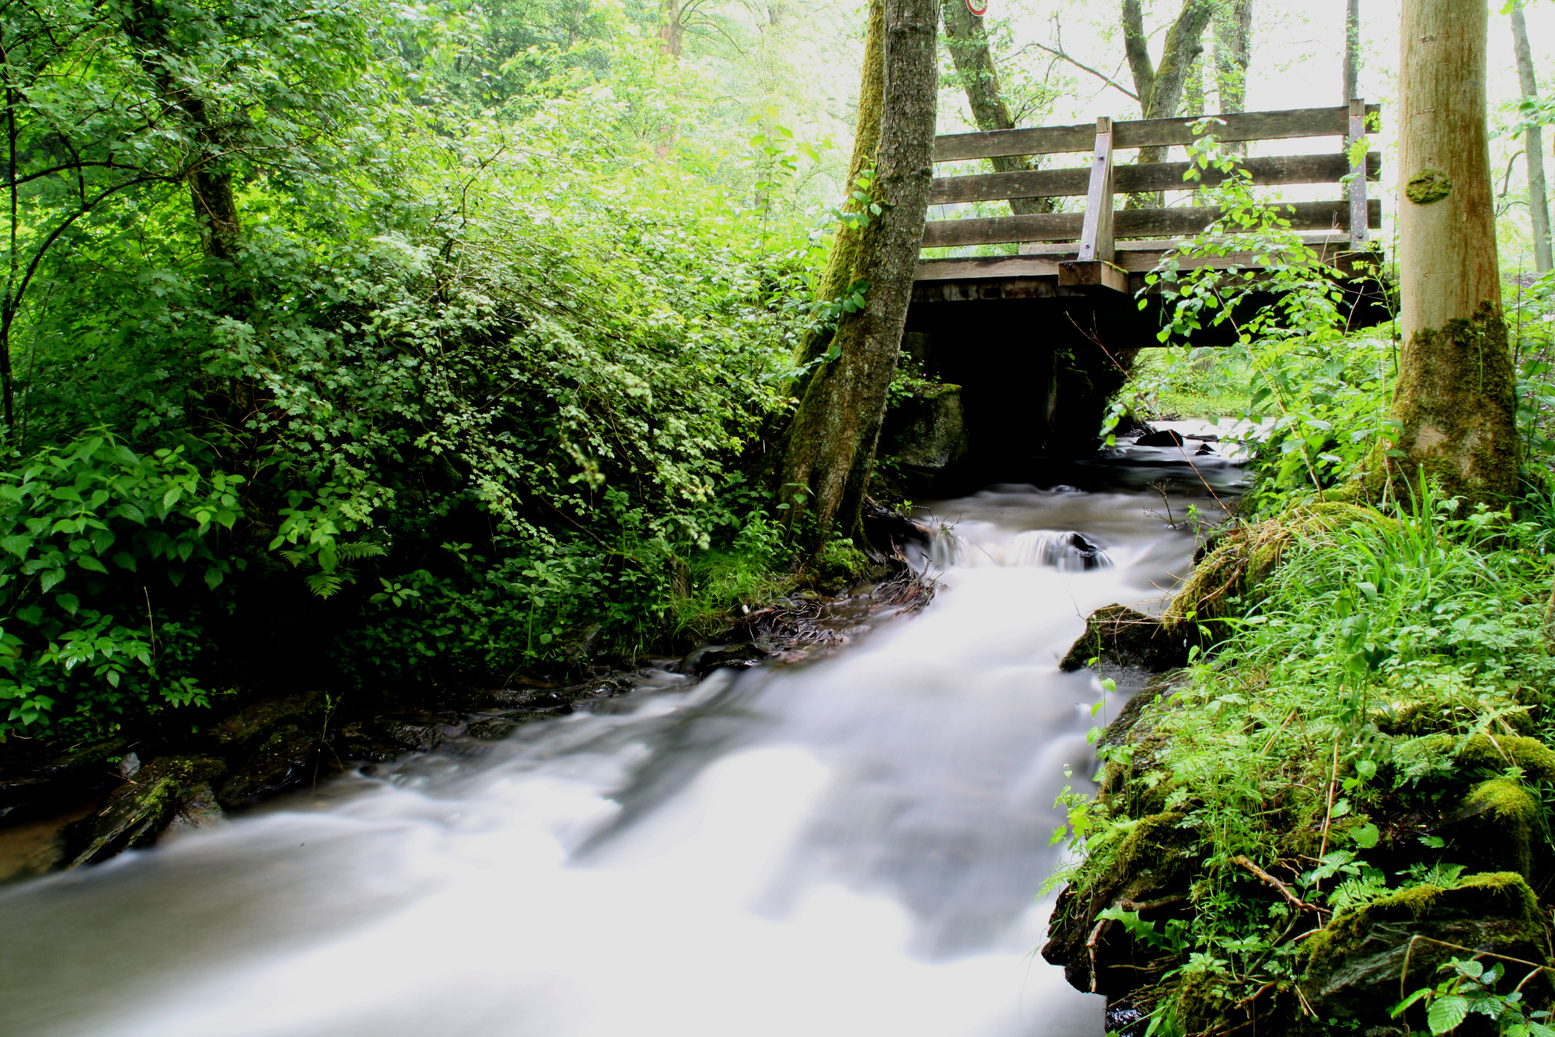
[[[1381, 112], [1381, 106], [1368, 104], [1367, 115]], [[1193, 124], [1205, 117], [1143, 118], [1129, 123], [1113, 123], [1112, 146], [1148, 148], [1155, 145], [1190, 145], [1199, 138]], [[1224, 124], [1208, 123], [1207, 134], [1219, 140], [1288, 140], [1292, 137], [1344, 137], [1350, 132], [1350, 109], [1306, 107], [1281, 112], [1236, 112], [1219, 115]], [[1056, 155], [1071, 151], [1090, 151], [1096, 141], [1095, 123], [1079, 126], [1029, 126], [1020, 129], [994, 129], [978, 134], [945, 134], [935, 138], [935, 162], [961, 159], [998, 159], [1003, 155]]]

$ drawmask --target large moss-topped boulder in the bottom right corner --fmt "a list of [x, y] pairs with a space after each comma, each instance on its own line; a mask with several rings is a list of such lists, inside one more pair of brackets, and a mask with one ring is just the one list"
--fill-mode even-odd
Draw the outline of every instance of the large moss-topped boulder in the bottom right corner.
[[[1451, 889], [1413, 886], [1345, 911], [1308, 939], [1302, 993], [1320, 1018], [1359, 1031], [1392, 1026], [1400, 990], [1432, 986], [1449, 958], [1499, 955], [1510, 990], [1529, 967], [1505, 959], [1547, 965], [1546, 936], [1533, 889], [1516, 872], [1469, 875]], [[1524, 995], [1543, 1000], [1549, 984], [1530, 979]]]

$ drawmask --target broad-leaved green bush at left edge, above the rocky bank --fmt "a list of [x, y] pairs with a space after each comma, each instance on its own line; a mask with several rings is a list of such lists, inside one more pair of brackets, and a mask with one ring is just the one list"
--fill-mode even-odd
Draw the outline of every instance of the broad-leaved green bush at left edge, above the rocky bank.
[[0, 473], [0, 738], [208, 701], [199, 614], [241, 564], [241, 482], [110, 435]]

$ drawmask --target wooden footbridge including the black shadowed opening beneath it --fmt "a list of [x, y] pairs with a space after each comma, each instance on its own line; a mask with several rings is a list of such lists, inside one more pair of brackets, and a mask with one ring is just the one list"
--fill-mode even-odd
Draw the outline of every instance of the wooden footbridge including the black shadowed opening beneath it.
[[[1188, 182], [1183, 179], [1188, 162], [1120, 165], [1120, 151], [1158, 148], [1158, 154], [1166, 154], [1171, 146], [1199, 140], [1197, 126], [1227, 143], [1334, 138], [1333, 151], [1323, 154], [1253, 155], [1242, 159], [1241, 168], [1255, 187], [1344, 185], [1331, 193], [1331, 201], [1294, 202], [1292, 211], [1281, 216], [1306, 247], [1339, 271], [1351, 325], [1384, 320], [1382, 286], [1375, 275], [1358, 269], [1358, 260], [1378, 257], [1370, 230], [1378, 227], [1382, 211], [1379, 201], [1368, 197], [1368, 187], [1381, 174], [1382, 162], [1376, 152], [1354, 163], [1350, 157], [1350, 143], [1365, 137], [1376, 110], [1351, 101], [1339, 107], [1242, 112], [1208, 123], [1202, 117], [1099, 118], [1095, 126], [939, 137], [935, 159], [941, 163], [1088, 152], [1087, 165], [1081, 166], [980, 171], [933, 183], [930, 201], [941, 205], [1085, 199], [1081, 211], [925, 224], [925, 249], [1019, 244], [1015, 255], [924, 258], [913, 285], [903, 351], [928, 375], [961, 387], [955, 421], [964, 424], [975, 462], [967, 485], [981, 485], [978, 479], [1026, 479], [1036, 454], [1093, 449], [1106, 400], [1127, 378], [1135, 350], [1160, 345], [1165, 300], [1146, 288], [1146, 274], [1183, 238], [1199, 235], [1221, 218], [1218, 208], [1202, 204], [1137, 207], [1166, 191], [1193, 199], [1196, 188], [1224, 176], [1218, 169], [1205, 169], [1202, 179]], [[1135, 207], [1120, 207], [1120, 194], [1132, 196]], [[1255, 272], [1258, 263], [1252, 250], [1180, 260], [1182, 267], [1236, 266]], [[1242, 299], [1238, 312], [1272, 300], [1270, 292], [1255, 292]], [[1194, 333], [1194, 345], [1225, 345], [1233, 336], [1232, 322], [1207, 323]]]

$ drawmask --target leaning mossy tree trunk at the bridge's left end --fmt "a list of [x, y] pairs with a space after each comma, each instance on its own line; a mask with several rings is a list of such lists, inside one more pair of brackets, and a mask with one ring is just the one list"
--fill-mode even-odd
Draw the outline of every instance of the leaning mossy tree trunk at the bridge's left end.
[[[883, 103], [874, 180], [882, 213], [863, 229], [852, 275], [852, 281], [869, 285], [865, 306], [838, 320], [830, 350], [835, 359], [810, 373], [782, 443], [778, 496], [788, 505], [784, 522], [810, 547], [832, 530], [861, 541], [865, 487], [928, 215], [939, 86], [936, 3], [885, 0], [882, 22]], [[860, 106], [860, 135], [868, 132], [863, 120]]]

